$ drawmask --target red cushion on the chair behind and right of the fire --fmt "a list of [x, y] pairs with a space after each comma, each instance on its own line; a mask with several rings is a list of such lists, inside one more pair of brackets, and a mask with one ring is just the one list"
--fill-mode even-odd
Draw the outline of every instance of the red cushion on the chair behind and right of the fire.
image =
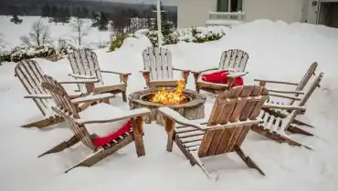
[[[227, 84], [227, 74], [227, 70], [221, 70], [214, 73], [202, 75], [202, 80], [210, 83]], [[236, 77], [234, 83], [231, 86], [234, 87], [243, 84], [244, 83], [242, 77]]]

